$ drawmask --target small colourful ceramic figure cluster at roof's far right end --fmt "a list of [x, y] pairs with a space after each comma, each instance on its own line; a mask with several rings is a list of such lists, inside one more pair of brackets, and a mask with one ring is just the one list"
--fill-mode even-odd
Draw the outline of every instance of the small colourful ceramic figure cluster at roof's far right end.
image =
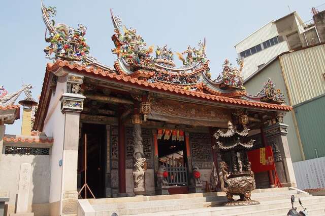
[[274, 103], [284, 103], [284, 94], [281, 93], [279, 89], [275, 88], [275, 83], [268, 78], [266, 82], [264, 82], [263, 89], [261, 92], [257, 93], [256, 96], [262, 96], [261, 101], [263, 102], [274, 102]]

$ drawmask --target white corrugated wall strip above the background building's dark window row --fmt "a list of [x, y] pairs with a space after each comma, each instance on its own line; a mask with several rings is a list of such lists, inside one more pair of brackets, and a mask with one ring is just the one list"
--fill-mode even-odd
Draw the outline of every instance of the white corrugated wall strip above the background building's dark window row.
[[272, 23], [273, 21], [269, 22], [235, 45], [236, 52], [243, 52], [256, 45], [262, 44], [262, 42], [271, 39], [272, 37], [278, 36], [279, 34], [276, 25]]

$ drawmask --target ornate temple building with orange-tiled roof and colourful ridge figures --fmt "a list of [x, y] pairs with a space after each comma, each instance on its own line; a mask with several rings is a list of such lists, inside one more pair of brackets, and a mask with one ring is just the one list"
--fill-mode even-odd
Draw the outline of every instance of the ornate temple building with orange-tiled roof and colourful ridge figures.
[[[220, 162], [236, 172], [250, 173], [250, 164], [256, 166], [249, 152], [231, 151], [241, 146], [245, 152], [273, 149], [266, 159], [261, 153], [261, 163], [276, 169], [255, 173], [256, 188], [296, 186], [283, 123], [292, 107], [284, 104], [272, 80], [249, 95], [243, 62], [237, 68], [228, 60], [213, 79], [205, 39], [176, 53], [183, 64], [176, 67], [167, 45], [155, 51], [147, 47], [136, 29], [123, 25], [112, 11], [116, 61], [106, 66], [89, 54], [87, 28], [56, 25], [55, 13], [54, 7], [42, 5], [49, 42], [44, 52], [53, 62], [45, 67], [32, 127], [37, 137], [15, 139], [3, 135], [4, 129], [0, 133], [1, 163], [9, 154], [20, 154], [16, 164], [8, 165], [18, 167], [24, 152], [34, 155], [31, 182], [41, 182], [45, 191], [38, 185], [30, 189], [28, 206], [35, 215], [76, 215], [78, 198], [220, 191]], [[13, 123], [17, 113], [19, 106], [2, 104], [1, 128]], [[236, 132], [233, 145], [218, 147], [217, 132], [225, 143]], [[19, 179], [19, 172], [3, 181], [5, 171], [0, 166], [0, 189], [11, 190], [9, 215], [17, 194], [10, 181]]]

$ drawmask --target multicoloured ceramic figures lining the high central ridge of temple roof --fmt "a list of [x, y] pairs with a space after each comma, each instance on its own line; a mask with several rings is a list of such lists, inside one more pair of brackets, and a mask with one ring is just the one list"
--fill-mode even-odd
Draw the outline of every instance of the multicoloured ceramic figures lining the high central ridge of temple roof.
[[[172, 49], [168, 49], [167, 45], [163, 48], [157, 46], [155, 58], [151, 56], [153, 46], [147, 47], [145, 40], [137, 34], [137, 30], [126, 28], [122, 25], [119, 16], [114, 16], [111, 10], [111, 17], [114, 25], [115, 34], [112, 36], [115, 49], [112, 50], [119, 58], [122, 58], [132, 67], [145, 67], [147, 69], [157, 69], [156, 66], [174, 68], [174, 53]], [[191, 48], [190, 46], [182, 53], [176, 53], [183, 65], [189, 67], [198, 63], [206, 62], [205, 40], [199, 42], [199, 48]], [[183, 55], [186, 55], [184, 57]]]

